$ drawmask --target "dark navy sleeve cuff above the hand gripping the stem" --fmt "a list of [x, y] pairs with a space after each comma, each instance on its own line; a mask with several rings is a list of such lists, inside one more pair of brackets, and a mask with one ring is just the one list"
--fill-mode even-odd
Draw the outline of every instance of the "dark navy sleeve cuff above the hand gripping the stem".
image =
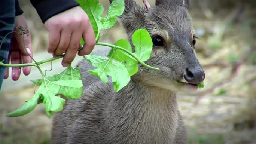
[[75, 0], [30, 0], [43, 23], [65, 10], [79, 6]]

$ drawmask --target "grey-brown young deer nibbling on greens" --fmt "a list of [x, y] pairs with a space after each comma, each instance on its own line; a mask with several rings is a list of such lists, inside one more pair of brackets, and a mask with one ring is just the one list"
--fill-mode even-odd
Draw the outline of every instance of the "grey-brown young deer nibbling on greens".
[[176, 93], [195, 91], [205, 78], [195, 53], [189, 0], [156, 0], [152, 7], [143, 2], [146, 8], [125, 0], [118, 21], [129, 42], [135, 30], [149, 32], [153, 48], [146, 63], [160, 70], [139, 65], [128, 85], [115, 92], [110, 78], [104, 84], [87, 72], [93, 66], [80, 61], [83, 95], [67, 99], [55, 114], [53, 144], [187, 144]]

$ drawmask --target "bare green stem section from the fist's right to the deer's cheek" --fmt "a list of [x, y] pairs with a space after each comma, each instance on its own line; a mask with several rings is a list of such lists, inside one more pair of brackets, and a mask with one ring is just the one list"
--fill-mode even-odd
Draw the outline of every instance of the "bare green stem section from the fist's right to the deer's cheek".
[[108, 46], [108, 47], [111, 47], [111, 48], [116, 48], [116, 49], [120, 49], [126, 53], [128, 53], [129, 55], [131, 55], [133, 58], [135, 58], [141, 65], [143, 65], [144, 67], [147, 67], [147, 68], [150, 68], [152, 70], [159, 70], [159, 68], [155, 68], [155, 67], [151, 67], [150, 65], [147, 65], [145, 64], [143, 61], [141, 61], [139, 58], [137, 58], [137, 56], [134, 55], [134, 53], [132, 52], [129, 52], [128, 50], [120, 47], [120, 46], [115, 46], [115, 45], [111, 45], [109, 43], [101, 43], [101, 42], [98, 42], [96, 43], [96, 45], [100, 45], [100, 46]]

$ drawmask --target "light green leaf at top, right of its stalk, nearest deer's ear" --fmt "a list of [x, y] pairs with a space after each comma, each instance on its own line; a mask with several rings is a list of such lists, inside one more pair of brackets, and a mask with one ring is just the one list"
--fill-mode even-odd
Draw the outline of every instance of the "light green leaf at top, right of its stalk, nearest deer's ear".
[[116, 23], [116, 16], [122, 15], [124, 12], [124, 0], [113, 0], [109, 6], [107, 15], [104, 18], [100, 18], [101, 28], [109, 29]]

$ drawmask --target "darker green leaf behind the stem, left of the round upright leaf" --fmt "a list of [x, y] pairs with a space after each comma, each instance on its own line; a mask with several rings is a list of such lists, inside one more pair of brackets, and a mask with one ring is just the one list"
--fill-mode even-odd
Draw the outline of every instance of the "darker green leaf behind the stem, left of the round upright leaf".
[[[125, 48], [128, 51], [132, 52], [132, 47], [127, 40], [124, 40], [124, 39], [118, 40], [115, 43], [115, 45]], [[134, 59], [132, 56], [130, 56], [128, 53], [119, 49], [114, 49], [114, 48], [112, 48], [108, 56], [110, 57], [112, 53], [113, 53], [113, 57], [112, 57], [113, 59], [124, 63], [130, 76], [133, 76], [135, 73], [138, 72], [138, 61]]]

